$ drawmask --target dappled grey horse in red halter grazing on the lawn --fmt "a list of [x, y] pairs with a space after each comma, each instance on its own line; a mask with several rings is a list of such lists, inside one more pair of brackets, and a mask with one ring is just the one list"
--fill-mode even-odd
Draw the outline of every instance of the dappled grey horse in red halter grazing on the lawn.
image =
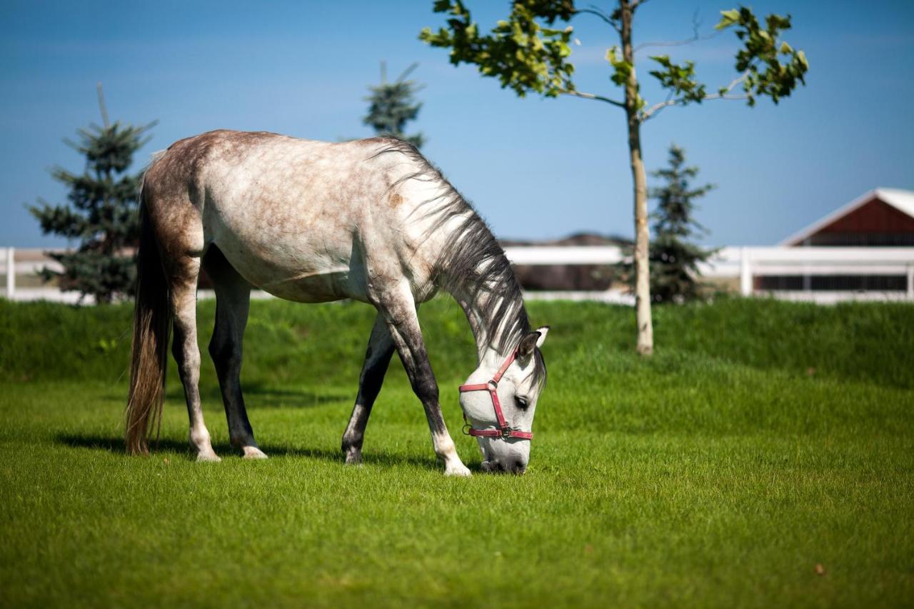
[[170, 330], [187, 401], [190, 445], [218, 461], [200, 408], [197, 277], [216, 291], [209, 353], [232, 445], [263, 458], [241, 396], [241, 338], [250, 290], [301, 303], [352, 298], [374, 305], [356, 405], [343, 435], [362, 459], [371, 407], [396, 349], [425, 408], [446, 475], [470, 475], [438, 401], [416, 307], [443, 289], [462, 306], [478, 368], [461, 386], [464, 431], [485, 471], [521, 474], [546, 380], [514, 272], [492, 232], [415, 147], [392, 137], [330, 144], [268, 133], [214, 131], [157, 153], [143, 175], [141, 241], [126, 414], [127, 449], [148, 452], [160, 421]]

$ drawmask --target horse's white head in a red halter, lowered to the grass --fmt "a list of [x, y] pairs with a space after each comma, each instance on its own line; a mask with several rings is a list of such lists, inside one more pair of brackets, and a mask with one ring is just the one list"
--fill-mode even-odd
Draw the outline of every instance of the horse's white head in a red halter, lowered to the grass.
[[546, 363], [539, 347], [548, 331], [549, 326], [543, 326], [521, 338], [505, 360], [484, 360], [461, 385], [466, 430], [476, 437], [487, 472], [526, 471], [533, 416], [546, 384]]

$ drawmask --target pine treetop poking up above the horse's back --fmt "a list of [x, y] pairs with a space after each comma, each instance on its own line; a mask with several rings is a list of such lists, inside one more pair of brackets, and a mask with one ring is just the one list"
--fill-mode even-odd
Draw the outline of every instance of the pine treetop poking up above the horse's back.
[[371, 95], [365, 98], [369, 102], [368, 114], [362, 122], [371, 126], [378, 135], [396, 135], [421, 148], [425, 143], [425, 136], [421, 132], [404, 134], [406, 123], [416, 120], [422, 108], [422, 104], [413, 97], [422, 89], [421, 85], [415, 80], [406, 80], [418, 65], [412, 64], [400, 74], [399, 79], [388, 82], [387, 66], [381, 62], [381, 83], [368, 87], [368, 91], [371, 91]]

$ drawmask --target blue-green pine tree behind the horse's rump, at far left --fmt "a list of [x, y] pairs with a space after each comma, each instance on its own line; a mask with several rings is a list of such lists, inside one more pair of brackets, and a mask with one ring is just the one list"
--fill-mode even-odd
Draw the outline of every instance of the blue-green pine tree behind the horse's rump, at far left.
[[51, 176], [69, 188], [69, 203], [51, 205], [39, 198], [29, 211], [44, 234], [80, 241], [73, 251], [48, 254], [64, 270], [44, 270], [45, 281], [58, 279], [62, 290], [94, 296], [97, 303], [110, 303], [133, 292], [133, 251], [139, 242], [136, 201], [142, 174], [129, 174], [127, 170], [133, 154], [149, 141], [143, 135], [154, 123], [108, 123], [101, 85], [99, 103], [104, 126], [91, 123], [88, 129], [77, 130], [78, 142], [64, 140], [85, 155], [82, 173], [74, 174], [60, 166], [51, 170]]

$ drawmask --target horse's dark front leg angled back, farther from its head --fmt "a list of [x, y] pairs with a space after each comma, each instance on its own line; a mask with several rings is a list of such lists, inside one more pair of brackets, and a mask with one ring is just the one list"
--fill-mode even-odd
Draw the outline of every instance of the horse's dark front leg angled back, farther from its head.
[[390, 357], [394, 353], [394, 341], [390, 337], [388, 324], [384, 315], [380, 313], [375, 317], [375, 326], [371, 328], [371, 337], [368, 337], [368, 348], [365, 353], [365, 363], [362, 364], [362, 374], [358, 378], [358, 395], [356, 405], [353, 406], [352, 416], [343, 434], [343, 454], [345, 462], [349, 465], [362, 463], [362, 441], [365, 438], [365, 428], [371, 407], [381, 390], [384, 375], [388, 371]]

